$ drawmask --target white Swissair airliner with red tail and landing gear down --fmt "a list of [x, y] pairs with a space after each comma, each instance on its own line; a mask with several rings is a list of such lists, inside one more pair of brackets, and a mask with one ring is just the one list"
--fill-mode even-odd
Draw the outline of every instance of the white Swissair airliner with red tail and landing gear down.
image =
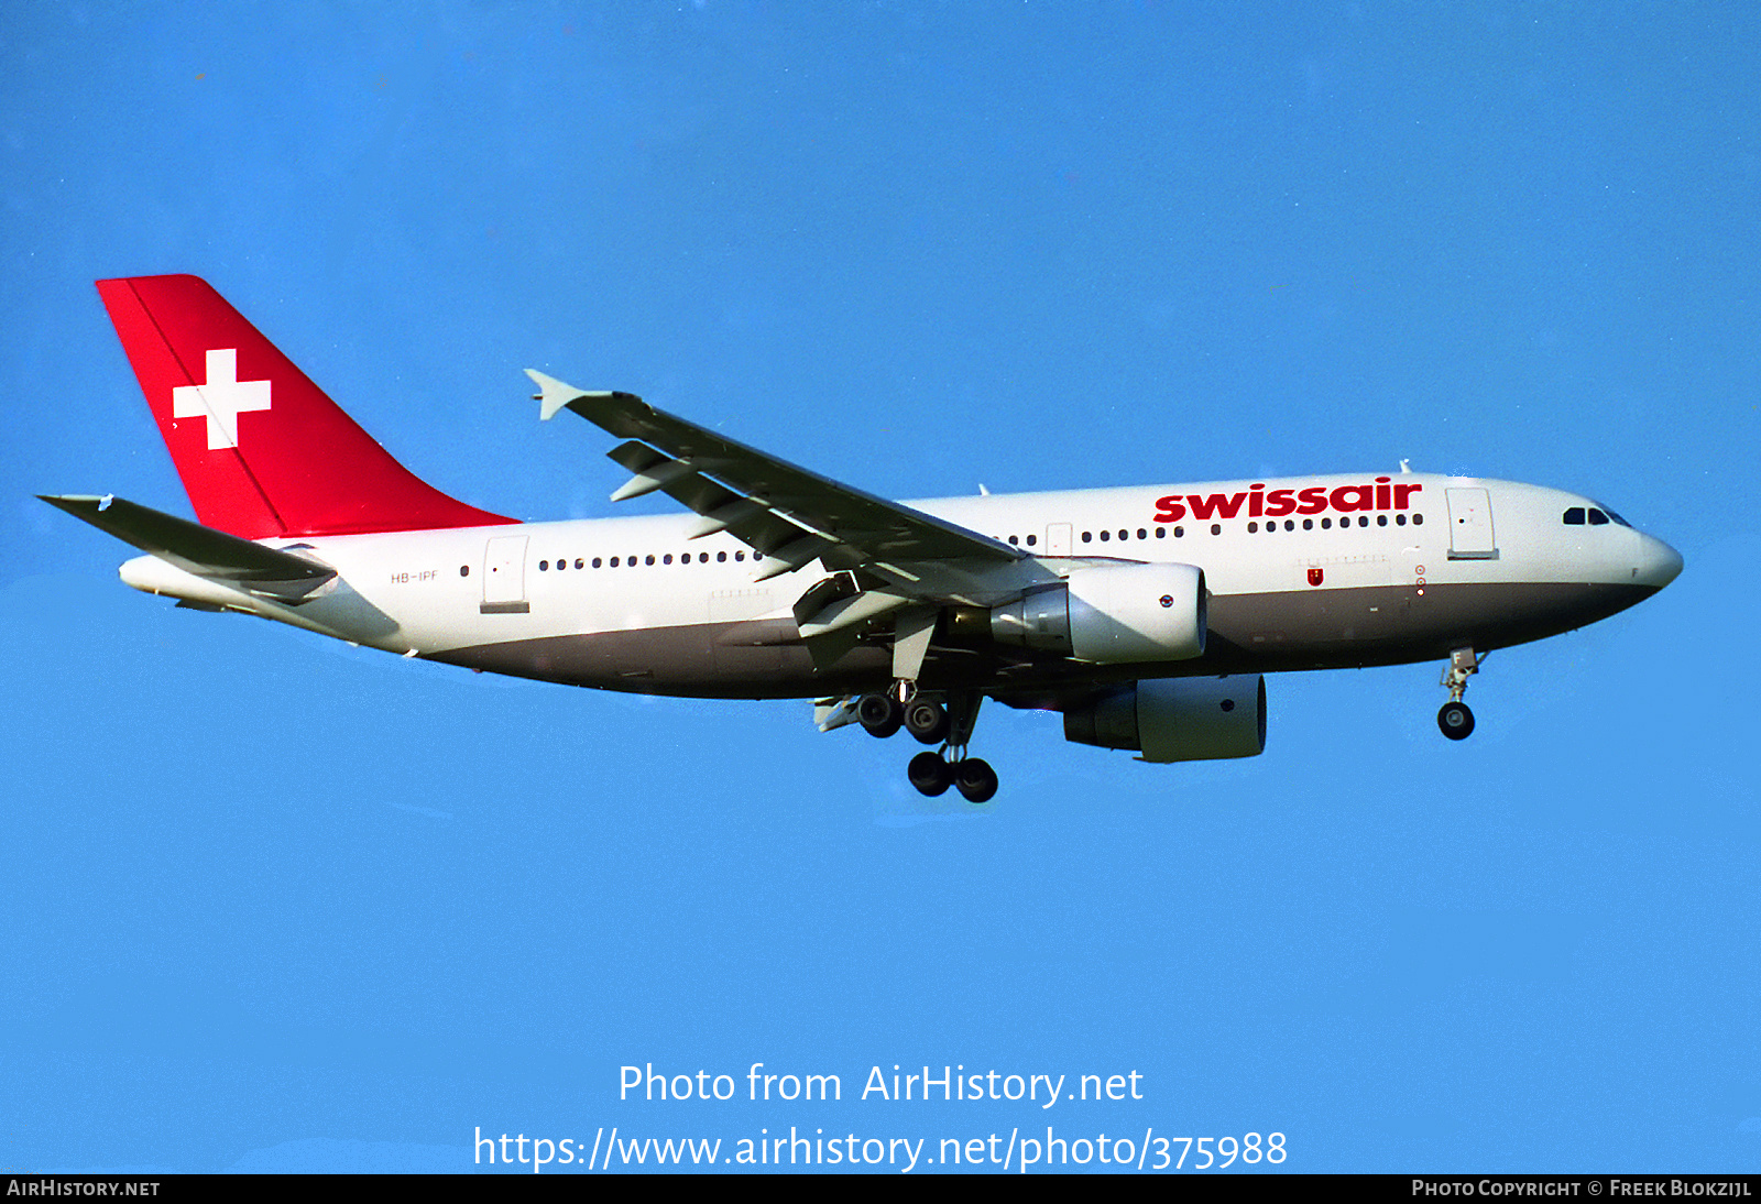
[[127, 584], [474, 671], [814, 699], [821, 730], [923, 743], [907, 776], [932, 797], [997, 794], [969, 755], [984, 699], [1146, 762], [1254, 757], [1264, 674], [1444, 660], [1437, 723], [1465, 739], [1486, 653], [1682, 572], [1588, 496], [1405, 461], [889, 502], [534, 370], [541, 419], [622, 440], [613, 502], [689, 514], [521, 523], [410, 474], [204, 280], [97, 287], [199, 521], [39, 496], [141, 549]]

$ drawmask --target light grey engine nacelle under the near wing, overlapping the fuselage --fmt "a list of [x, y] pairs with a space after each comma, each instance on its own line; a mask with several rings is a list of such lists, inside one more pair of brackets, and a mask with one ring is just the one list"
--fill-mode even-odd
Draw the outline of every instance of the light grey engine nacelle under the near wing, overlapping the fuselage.
[[1099, 665], [1205, 655], [1205, 570], [1196, 565], [1078, 569], [1064, 584], [990, 613], [991, 639]]

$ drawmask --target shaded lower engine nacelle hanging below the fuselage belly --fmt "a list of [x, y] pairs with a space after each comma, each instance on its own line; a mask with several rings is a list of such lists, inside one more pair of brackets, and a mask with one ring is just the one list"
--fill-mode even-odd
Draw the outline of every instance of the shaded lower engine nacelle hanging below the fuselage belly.
[[1138, 681], [1064, 713], [1064, 739], [1141, 752], [1145, 760], [1219, 760], [1266, 750], [1266, 679]]

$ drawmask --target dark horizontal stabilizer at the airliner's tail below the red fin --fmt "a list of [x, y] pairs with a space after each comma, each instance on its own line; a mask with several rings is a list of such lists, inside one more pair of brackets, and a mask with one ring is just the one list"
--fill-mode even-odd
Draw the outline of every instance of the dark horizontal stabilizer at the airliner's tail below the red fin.
[[298, 553], [264, 547], [122, 498], [37, 496], [185, 572], [236, 583], [252, 593], [298, 602], [336, 576], [329, 565]]

